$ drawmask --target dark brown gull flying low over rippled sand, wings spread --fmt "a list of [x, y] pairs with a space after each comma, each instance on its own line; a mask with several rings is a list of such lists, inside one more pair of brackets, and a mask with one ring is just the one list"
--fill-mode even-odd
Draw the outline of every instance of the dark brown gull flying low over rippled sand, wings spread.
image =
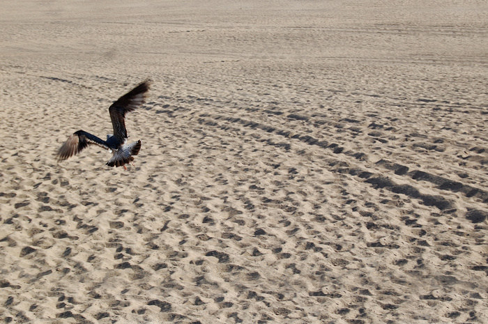
[[59, 151], [56, 153], [58, 161], [63, 161], [68, 159], [68, 157], [77, 155], [77, 153], [83, 151], [87, 146], [94, 144], [107, 149], [109, 153], [113, 154], [112, 158], [107, 162], [109, 167], [123, 167], [127, 170], [125, 164], [132, 163], [134, 165], [132, 162], [134, 155], [139, 154], [142, 144], [140, 139], [128, 143], [128, 134], [125, 129], [124, 119], [125, 114], [144, 104], [144, 97], [148, 89], [149, 82], [142, 82], [142, 84], [133, 88], [109, 107], [114, 134], [107, 134], [107, 141], [84, 130], [78, 130], [70, 135], [63, 146], [59, 148]]

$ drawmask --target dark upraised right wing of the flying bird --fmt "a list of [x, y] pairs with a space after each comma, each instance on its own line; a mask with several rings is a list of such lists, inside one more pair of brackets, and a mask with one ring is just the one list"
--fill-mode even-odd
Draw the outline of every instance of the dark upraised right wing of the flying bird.
[[144, 95], [149, 90], [149, 82], [145, 81], [136, 86], [131, 91], [123, 95], [119, 100], [109, 107], [110, 119], [114, 126], [114, 136], [122, 144], [124, 139], [128, 138], [125, 129], [125, 114], [136, 109], [144, 103]]

